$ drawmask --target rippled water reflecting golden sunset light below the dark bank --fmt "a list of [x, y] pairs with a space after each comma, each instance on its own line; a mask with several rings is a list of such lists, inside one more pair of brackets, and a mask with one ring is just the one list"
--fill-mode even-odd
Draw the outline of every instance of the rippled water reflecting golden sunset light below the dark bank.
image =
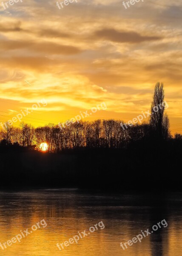
[[[133, 239], [141, 230], [151, 230], [163, 219], [168, 227], [162, 226], [141, 243], [122, 249], [121, 242]], [[39, 224], [40, 228], [30, 233], [32, 225], [40, 221], [43, 225]], [[58, 249], [57, 243], [68, 241], [84, 230], [88, 234], [89, 228], [100, 221], [104, 229], [100, 223], [102, 229], [97, 225], [98, 230], [80, 238], [78, 244], [74, 242], [61, 251]], [[181, 256], [182, 194], [111, 195], [79, 190], [0, 192], [0, 242], [3, 244], [26, 229], [30, 234], [25, 234], [20, 243], [6, 245], [4, 250], [0, 247], [0, 255]]]

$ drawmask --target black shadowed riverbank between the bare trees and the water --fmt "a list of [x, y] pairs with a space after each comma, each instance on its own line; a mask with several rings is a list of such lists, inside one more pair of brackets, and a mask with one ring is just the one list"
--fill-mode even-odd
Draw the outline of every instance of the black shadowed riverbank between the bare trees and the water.
[[180, 190], [180, 163], [179, 148], [169, 143], [59, 154], [11, 151], [0, 153], [0, 188]]

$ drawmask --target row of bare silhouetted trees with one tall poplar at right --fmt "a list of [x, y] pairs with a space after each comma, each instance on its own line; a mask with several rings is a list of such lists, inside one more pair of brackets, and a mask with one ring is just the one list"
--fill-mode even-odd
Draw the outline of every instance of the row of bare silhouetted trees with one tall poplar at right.
[[[164, 87], [163, 84], [157, 83], [151, 110], [163, 102]], [[115, 119], [98, 119], [92, 122], [80, 120], [64, 128], [51, 123], [37, 128], [24, 122], [20, 127], [13, 127], [6, 123], [6, 128], [0, 131], [0, 145], [20, 145], [40, 150], [41, 143], [46, 142], [49, 152], [59, 152], [81, 147], [125, 148], [135, 141], [172, 139], [164, 105], [150, 116], [148, 122], [132, 124], [127, 129], [123, 129], [121, 124], [125, 122]], [[182, 135], [175, 134], [174, 138], [182, 140]]]

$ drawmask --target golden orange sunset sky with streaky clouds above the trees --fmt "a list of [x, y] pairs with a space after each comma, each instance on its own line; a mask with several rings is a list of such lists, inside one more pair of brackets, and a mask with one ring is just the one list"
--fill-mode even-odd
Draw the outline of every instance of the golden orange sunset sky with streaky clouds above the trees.
[[84, 120], [128, 122], [150, 109], [159, 81], [171, 132], [182, 133], [182, 2], [122, 2], [0, 2], [0, 122], [28, 108], [24, 122], [57, 124], [102, 102]]

